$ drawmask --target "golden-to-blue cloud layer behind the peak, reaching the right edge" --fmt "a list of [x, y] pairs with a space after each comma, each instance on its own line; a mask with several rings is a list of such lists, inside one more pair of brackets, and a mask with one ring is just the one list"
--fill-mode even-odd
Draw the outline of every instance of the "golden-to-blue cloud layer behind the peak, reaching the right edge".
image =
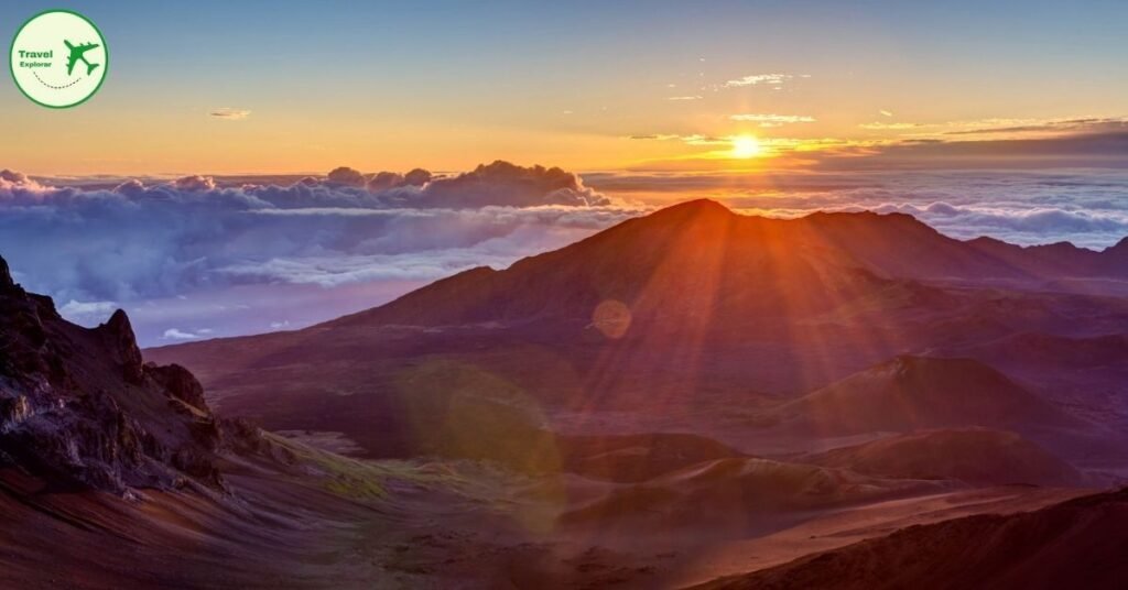
[[900, 170], [892, 173], [587, 175], [609, 194], [653, 201], [694, 194], [752, 214], [902, 212], [960, 239], [1102, 249], [1128, 236], [1128, 171]]

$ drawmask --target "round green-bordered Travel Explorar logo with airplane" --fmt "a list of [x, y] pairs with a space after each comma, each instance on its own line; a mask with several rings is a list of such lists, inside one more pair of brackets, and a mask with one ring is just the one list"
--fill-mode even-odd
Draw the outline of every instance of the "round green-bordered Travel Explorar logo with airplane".
[[47, 10], [24, 23], [8, 59], [24, 96], [50, 108], [85, 103], [102, 88], [109, 69], [102, 32], [70, 10]]

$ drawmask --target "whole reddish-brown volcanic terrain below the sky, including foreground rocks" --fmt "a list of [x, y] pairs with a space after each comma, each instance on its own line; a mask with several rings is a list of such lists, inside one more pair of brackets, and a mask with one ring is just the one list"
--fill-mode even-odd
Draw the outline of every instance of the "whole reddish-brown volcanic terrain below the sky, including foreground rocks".
[[[1122, 582], [1122, 494], [1014, 514], [1079, 492], [970, 487], [1074, 482], [1043, 449], [1090, 430], [1076, 408], [926, 355], [1122, 332], [1123, 300], [1037, 291], [1123, 276], [1122, 253], [700, 201], [308, 329], [148, 351], [227, 415], [380, 460], [228, 422], [124, 315], [69, 325], [0, 273], [0, 585]], [[952, 520], [982, 513], [1010, 516]]]

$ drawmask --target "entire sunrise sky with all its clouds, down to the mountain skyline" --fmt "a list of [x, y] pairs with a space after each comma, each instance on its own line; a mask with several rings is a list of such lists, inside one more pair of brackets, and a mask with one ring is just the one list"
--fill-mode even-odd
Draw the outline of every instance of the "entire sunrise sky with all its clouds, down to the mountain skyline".
[[71, 109], [0, 83], [0, 255], [143, 345], [305, 327], [697, 197], [1128, 235], [1122, 1], [52, 7], [112, 62]]

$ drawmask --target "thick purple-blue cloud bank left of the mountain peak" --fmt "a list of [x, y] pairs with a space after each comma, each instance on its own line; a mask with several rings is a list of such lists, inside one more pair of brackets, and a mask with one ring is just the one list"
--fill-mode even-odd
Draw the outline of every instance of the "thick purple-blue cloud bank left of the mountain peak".
[[564, 245], [629, 211], [559, 168], [500, 161], [439, 177], [338, 168], [288, 185], [195, 175], [90, 190], [7, 170], [0, 254], [26, 287], [95, 318], [111, 302], [379, 280], [398, 264], [399, 278], [438, 279], [479, 255], [508, 264]]

